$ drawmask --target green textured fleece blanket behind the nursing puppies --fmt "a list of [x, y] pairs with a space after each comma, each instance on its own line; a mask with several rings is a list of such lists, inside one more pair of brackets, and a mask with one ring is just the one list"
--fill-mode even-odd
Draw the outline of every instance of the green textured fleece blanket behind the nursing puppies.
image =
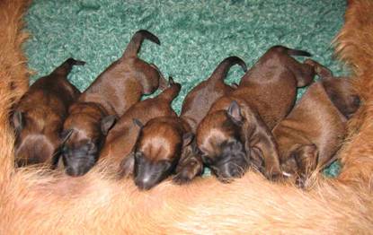
[[[187, 91], [225, 57], [242, 57], [250, 67], [276, 44], [306, 49], [342, 74], [331, 41], [342, 27], [345, 7], [345, 0], [34, 0], [26, 16], [32, 36], [25, 51], [37, 71], [31, 82], [67, 57], [86, 61], [69, 76], [84, 91], [120, 57], [134, 32], [150, 30], [162, 45], [146, 41], [140, 57], [182, 83], [173, 102], [179, 112]], [[235, 66], [226, 81], [238, 82], [243, 74]], [[327, 174], [338, 170], [333, 164]]]

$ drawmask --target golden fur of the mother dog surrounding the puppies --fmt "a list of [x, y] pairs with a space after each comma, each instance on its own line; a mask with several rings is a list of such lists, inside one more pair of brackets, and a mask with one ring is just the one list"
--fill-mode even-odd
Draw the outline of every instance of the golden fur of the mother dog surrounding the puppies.
[[[0, 4], [0, 234], [368, 234], [373, 230], [373, 2], [351, 1], [337, 51], [351, 65], [362, 109], [351, 120], [337, 179], [315, 175], [309, 191], [271, 183], [250, 172], [232, 184], [201, 178], [187, 186], [170, 181], [139, 192], [116, 181], [105, 163], [82, 178], [46, 170], [13, 169], [8, 110], [27, 84], [21, 52], [23, 1]], [[5, 21], [4, 21], [5, 19]], [[9, 86], [13, 82], [17, 91]]]

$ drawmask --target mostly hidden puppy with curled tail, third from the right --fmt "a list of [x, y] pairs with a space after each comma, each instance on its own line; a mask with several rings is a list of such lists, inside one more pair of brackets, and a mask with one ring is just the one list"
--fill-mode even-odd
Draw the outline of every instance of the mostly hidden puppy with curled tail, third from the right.
[[[239, 57], [227, 57], [224, 59], [209, 79], [201, 82], [194, 87], [182, 103], [181, 118], [191, 126], [193, 134], [196, 133], [197, 126], [200, 121], [209, 111], [211, 105], [220, 97], [229, 94], [237, 88], [232, 88], [224, 79], [232, 65], [240, 65], [244, 72], [247, 71], [246, 64]], [[193, 141], [187, 148], [182, 150], [182, 157], [176, 168], [176, 175], [173, 178], [174, 182], [182, 184], [189, 182], [192, 178], [200, 175], [203, 170], [203, 162], [200, 154], [197, 151], [196, 143]]]

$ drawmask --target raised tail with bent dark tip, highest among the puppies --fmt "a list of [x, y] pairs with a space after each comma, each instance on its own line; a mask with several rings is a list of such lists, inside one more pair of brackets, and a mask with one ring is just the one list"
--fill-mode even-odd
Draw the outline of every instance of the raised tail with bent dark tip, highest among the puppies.
[[129, 45], [124, 51], [123, 57], [137, 57], [144, 39], [151, 40], [155, 44], [161, 45], [161, 42], [153, 33], [148, 30], [138, 30], [129, 41]]

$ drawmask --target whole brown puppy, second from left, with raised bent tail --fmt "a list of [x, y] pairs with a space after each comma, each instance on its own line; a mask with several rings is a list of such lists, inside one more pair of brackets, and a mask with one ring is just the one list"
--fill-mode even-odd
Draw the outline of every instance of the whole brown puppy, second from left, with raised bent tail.
[[157, 68], [138, 58], [144, 39], [160, 44], [147, 30], [136, 32], [123, 56], [103, 71], [69, 109], [64, 134], [72, 134], [62, 153], [68, 175], [81, 176], [90, 170], [116, 117], [123, 115], [143, 94], [158, 88]]

